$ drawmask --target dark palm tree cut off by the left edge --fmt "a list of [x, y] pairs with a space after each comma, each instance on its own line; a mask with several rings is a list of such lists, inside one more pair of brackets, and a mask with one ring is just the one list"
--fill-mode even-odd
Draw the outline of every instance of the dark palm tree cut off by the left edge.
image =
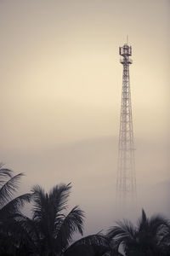
[[[0, 164], [0, 253], [13, 251], [17, 237], [14, 238], [14, 223], [16, 215], [21, 215], [21, 208], [31, 201], [31, 194], [14, 198], [14, 192], [19, 188], [23, 173], [13, 175], [13, 172]], [[19, 241], [17, 241], [18, 246]]]

